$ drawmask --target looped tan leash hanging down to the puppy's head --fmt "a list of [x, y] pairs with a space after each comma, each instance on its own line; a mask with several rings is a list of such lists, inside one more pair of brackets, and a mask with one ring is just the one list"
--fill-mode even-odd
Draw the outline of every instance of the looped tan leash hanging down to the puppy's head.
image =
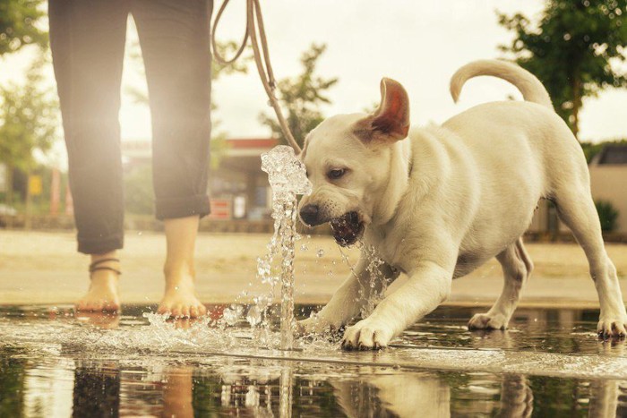
[[[263, 89], [266, 90], [266, 94], [270, 99], [271, 106], [274, 108], [274, 113], [279, 120], [279, 126], [283, 134], [288, 139], [289, 145], [299, 154], [301, 149], [298, 143], [294, 139], [294, 135], [289, 131], [288, 123], [283, 117], [281, 108], [279, 106], [279, 100], [274, 95], [274, 91], [277, 88], [277, 82], [274, 79], [274, 73], [272, 72], [272, 66], [270, 64], [270, 55], [268, 53], [268, 40], [266, 39], [266, 32], [263, 27], [262, 8], [259, 4], [259, 0], [246, 0], [246, 29], [244, 33], [244, 39], [242, 44], [237, 49], [233, 58], [227, 60], [224, 56], [220, 55], [218, 48], [216, 47], [216, 32], [218, 30], [218, 23], [224, 9], [227, 8], [229, 0], [224, 0], [216, 15], [215, 21], [213, 21], [211, 29], [211, 48], [213, 49], [213, 57], [219, 64], [229, 65], [236, 62], [237, 58], [242, 55], [244, 48], [248, 43], [248, 38], [251, 39], [251, 46], [253, 47], [254, 63], [257, 65], [257, 72], [262, 79]], [[258, 29], [257, 29], [258, 28]], [[259, 30], [259, 38], [257, 38], [257, 30]], [[260, 47], [261, 41], [261, 47]]]

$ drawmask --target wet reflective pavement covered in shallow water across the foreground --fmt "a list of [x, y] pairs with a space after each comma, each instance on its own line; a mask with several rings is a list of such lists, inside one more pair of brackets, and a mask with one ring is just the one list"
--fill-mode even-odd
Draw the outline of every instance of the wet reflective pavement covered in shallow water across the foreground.
[[[222, 306], [211, 309], [219, 319]], [[625, 416], [627, 352], [594, 310], [520, 309], [470, 332], [442, 307], [381, 352], [214, 321], [0, 308], [0, 416]], [[301, 316], [311, 306], [299, 306]], [[260, 342], [263, 342], [261, 344]]]

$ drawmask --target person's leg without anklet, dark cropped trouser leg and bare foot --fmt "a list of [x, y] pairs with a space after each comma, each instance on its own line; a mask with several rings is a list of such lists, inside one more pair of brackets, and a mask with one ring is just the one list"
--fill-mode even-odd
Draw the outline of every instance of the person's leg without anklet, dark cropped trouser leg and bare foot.
[[166, 293], [159, 312], [199, 316], [193, 248], [209, 214], [209, 23], [207, 0], [134, 0], [150, 94], [157, 218], [165, 221]]

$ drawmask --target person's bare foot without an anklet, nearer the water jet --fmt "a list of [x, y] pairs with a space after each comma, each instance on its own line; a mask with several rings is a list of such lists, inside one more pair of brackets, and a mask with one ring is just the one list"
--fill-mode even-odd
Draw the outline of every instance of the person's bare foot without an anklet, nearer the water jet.
[[169, 313], [175, 318], [198, 318], [207, 313], [207, 308], [196, 297], [191, 274], [166, 272], [166, 293], [157, 313]]

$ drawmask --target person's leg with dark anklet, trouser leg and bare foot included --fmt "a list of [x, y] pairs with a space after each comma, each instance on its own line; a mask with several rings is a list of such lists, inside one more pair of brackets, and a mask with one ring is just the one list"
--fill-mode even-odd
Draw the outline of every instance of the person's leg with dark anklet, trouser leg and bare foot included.
[[[128, 6], [124, 0], [50, 0], [50, 47], [67, 146], [78, 251], [91, 261], [123, 246], [120, 82]], [[119, 269], [116, 262], [102, 266]], [[116, 311], [117, 274], [99, 269], [79, 310]]]

